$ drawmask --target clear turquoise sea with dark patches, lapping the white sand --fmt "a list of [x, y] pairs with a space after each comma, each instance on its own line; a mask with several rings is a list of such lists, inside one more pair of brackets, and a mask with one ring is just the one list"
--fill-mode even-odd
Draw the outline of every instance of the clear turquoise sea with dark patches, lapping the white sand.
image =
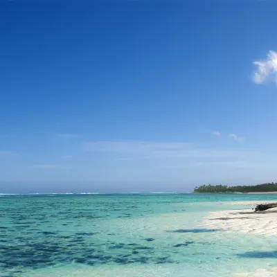
[[1, 195], [0, 276], [223, 277], [277, 267], [277, 238], [199, 227], [209, 211], [242, 208], [226, 202], [263, 199], [277, 195]]

